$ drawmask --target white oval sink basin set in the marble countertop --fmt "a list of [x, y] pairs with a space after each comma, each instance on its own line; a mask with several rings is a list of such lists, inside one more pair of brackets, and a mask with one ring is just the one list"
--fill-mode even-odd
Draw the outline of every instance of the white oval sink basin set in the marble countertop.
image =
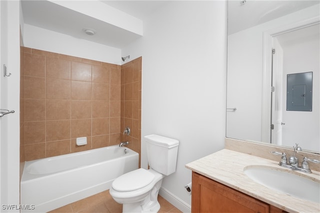
[[[307, 201], [320, 203], [320, 184], [291, 171], [264, 166], [248, 166], [243, 172], [250, 179], [267, 188]], [[299, 174], [300, 175], [300, 174]]]

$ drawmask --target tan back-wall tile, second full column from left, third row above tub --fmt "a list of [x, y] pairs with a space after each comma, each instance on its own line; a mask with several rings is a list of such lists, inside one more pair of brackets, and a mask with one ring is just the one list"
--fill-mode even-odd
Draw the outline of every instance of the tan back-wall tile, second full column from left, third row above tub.
[[69, 100], [46, 100], [46, 120], [66, 120], [70, 119]]

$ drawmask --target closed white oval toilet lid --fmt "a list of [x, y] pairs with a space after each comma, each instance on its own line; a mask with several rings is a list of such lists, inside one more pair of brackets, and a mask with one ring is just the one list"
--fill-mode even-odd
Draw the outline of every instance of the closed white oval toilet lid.
[[141, 168], [116, 178], [112, 182], [112, 188], [118, 192], [130, 192], [147, 186], [153, 179], [152, 173]]

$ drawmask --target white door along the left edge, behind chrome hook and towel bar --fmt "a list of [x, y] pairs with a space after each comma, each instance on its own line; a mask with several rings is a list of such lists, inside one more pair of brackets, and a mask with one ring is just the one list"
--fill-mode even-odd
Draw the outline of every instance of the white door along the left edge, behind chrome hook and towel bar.
[[19, 212], [19, 5], [0, 0], [0, 108], [15, 111], [0, 117], [0, 212]]

